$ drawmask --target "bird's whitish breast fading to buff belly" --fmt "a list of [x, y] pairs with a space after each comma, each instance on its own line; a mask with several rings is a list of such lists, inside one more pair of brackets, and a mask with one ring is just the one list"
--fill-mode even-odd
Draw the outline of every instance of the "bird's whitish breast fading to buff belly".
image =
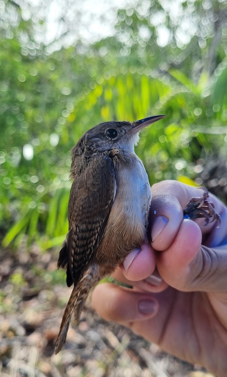
[[[123, 158], [116, 158], [114, 168], [116, 196], [97, 250], [97, 259], [116, 264], [123, 261], [133, 248], [148, 241], [151, 189], [144, 165], [135, 153], [127, 152]], [[107, 255], [108, 261], [105, 260]]]

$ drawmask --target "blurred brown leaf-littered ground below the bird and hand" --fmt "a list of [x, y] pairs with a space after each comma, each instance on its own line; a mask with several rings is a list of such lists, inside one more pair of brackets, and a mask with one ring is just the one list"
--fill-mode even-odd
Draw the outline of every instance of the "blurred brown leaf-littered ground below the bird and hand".
[[80, 325], [69, 327], [54, 355], [71, 289], [57, 271], [57, 250], [0, 250], [1, 377], [212, 377], [100, 318], [88, 300]]

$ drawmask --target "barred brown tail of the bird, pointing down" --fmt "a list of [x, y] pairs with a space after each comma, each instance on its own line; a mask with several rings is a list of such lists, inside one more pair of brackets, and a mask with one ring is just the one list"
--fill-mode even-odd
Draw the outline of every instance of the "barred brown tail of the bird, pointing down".
[[91, 288], [94, 287], [100, 280], [99, 271], [96, 265], [90, 266], [85, 272], [82, 279], [73, 288], [69, 302], [66, 305], [65, 312], [63, 314], [62, 323], [60, 326], [59, 335], [56, 340], [55, 351], [57, 354], [62, 349], [65, 344], [66, 335], [69, 328], [69, 323], [75, 307], [75, 320], [78, 325], [80, 319], [80, 313], [83, 309], [83, 305], [88, 297], [88, 293], [91, 291]]

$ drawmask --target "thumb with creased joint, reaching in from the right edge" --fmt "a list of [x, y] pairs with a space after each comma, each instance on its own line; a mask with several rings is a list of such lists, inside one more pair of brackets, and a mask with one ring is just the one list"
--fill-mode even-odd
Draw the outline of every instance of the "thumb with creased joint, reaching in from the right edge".
[[170, 247], [157, 253], [157, 267], [171, 287], [181, 291], [226, 292], [227, 247], [201, 246], [201, 230], [184, 219]]

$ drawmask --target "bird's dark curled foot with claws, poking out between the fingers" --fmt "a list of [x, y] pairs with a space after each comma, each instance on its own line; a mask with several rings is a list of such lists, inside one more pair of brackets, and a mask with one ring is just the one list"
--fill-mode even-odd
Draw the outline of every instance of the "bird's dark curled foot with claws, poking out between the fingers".
[[207, 198], [209, 193], [205, 187], [198, 187], [203, 190], [203, 194], [200, 197], [193, 196], [190, 201], [185, 205], [183, 214], [185, 219], [198, 219], [204, 218], [205, 224], [218, 220], [218, 226], [221, 224], [221, 219], [218, 213], [215, 212], [215, 206], [212, 202], [208, 202]]

